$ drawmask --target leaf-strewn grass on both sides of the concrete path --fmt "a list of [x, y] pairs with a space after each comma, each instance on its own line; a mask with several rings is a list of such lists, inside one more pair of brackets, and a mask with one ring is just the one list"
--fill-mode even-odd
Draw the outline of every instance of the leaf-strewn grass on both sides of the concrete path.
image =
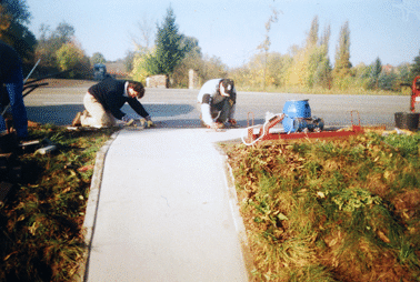
[[[96, 152], [113, 130], [41, 127], [0, 207], [0, 280], [69, 281]], [[417, 281], [420, 134], [227, 147], [256, 281]]]

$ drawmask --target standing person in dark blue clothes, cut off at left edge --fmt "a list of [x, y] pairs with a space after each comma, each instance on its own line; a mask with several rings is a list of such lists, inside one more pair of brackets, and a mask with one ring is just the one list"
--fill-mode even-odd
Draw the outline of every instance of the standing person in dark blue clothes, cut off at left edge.
[[28, 115], [23, 103], [22, 63], [13, 48], [0, 41], [0, 131], [6, 130], [4, 112], [10, 104], [18, 138], [28, 137]]

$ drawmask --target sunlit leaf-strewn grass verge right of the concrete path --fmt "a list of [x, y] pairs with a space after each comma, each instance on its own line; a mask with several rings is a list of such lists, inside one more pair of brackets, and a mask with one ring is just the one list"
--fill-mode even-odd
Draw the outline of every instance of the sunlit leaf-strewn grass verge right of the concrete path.
[[254, 281], [419, 281], [420, 134], [226, 148]]

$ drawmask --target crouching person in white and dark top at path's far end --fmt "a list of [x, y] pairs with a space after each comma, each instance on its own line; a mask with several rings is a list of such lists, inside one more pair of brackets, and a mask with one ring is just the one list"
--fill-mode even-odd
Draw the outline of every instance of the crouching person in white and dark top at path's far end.
[[198, 102], [201, 104], [201, 121], [206, 127], [220, 129], [237, 124], [233, 119], [237, 103], [233, 80], [212, 79], [207, 81], [198, 94]]

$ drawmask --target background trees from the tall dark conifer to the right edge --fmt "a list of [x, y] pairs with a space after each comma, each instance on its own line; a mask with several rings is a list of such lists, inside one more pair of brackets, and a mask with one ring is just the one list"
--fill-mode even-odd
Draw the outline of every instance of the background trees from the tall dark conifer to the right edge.
[[163, 73], [170, 77], [172, 85], [188, 87], [188, 70], [193, 69], [201, 83], [212, 78], [230, 77], [240, 90], [358, 93], [400, 92], [401, 83], [411, 83], [420, 74], [420, 53], [412, 64], [382, 66], [378, 57], [370, 64], [352, 66], [348, 21], [340, 29], [332, 66], [329, 58], [331, 28], [327, 26], [320, 32], [318, 16], [313, 18], [302, 46], [292, 46], [286, 54], [272, 52], [270, 30], [277, 17], [278, 11], [272, 9], [266, 22], [264, 41], [257, 47], [258, 53], [246, 64], [229, 69], [219, 58], [203, 56], [197, 39], [179, 33], [173, 10], [169, 7], [163, 23], [157, 27], [156, 44], [151, 48], [138, 44], [132, 73], [140, 81]]

